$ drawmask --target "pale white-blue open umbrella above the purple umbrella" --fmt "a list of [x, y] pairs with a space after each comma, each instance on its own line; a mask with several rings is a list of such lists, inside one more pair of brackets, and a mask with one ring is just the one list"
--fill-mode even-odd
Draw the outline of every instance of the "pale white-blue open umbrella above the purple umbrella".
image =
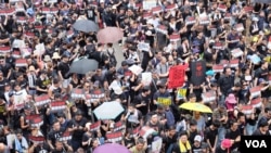
[[125, 110], [119, 102], [104, 102], [98, 106], [93, 113], [98, 119], [115, 119]]

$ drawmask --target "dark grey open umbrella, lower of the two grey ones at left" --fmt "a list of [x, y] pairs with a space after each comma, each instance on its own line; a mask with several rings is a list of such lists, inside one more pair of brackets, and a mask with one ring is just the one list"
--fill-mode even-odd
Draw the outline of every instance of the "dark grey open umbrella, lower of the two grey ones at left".
[[87, 74], [88, 72], [95, 71], [98, 62], [95, 60], [81, 59], [73, 62], [69, 73]]

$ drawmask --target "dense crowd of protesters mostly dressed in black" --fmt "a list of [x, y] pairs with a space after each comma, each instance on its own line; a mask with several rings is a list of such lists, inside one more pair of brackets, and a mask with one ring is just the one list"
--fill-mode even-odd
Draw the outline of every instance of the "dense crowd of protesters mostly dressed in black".
[[[121, 139], [114, 143], [132, 153], [151, 153], [155, 138], [163, 140], [162, 153], [237, 153], [241, 136], [270, 136], [271, 4], [157, 0], [162, 11], [154, 13], [144, 10], [140, 0], [1, 2], [1, 10], [16, 11], [0, 17], [0, 152], [93, 153], [95, 148], [113, 143], [107, 133], [120, 130]], [[44, 13], [42, 7], [56, 11]], [[202, 16], [208, 22], [202, 22]], [[98, 42], [95, 31], [75, 30], [73, 24], [78, 20], [93, 21], [100, 29], [120, 28], [124, 39], [117, 48], [121, 50]], [[172, 40], [171, 35], [180, 39]], [[140, 42], [149, 43], [150, 50], [139, 50]], [[35, 49], [40, 43], [44, 44], [42, 53]], [[242, 54], [233, 55], [235, 49]], [[70, 65], [80, 58], [96, 60], [99, 67], [86, 75], [70, 74]], [[233, 59], [238, 60], [237, 66], [212, 69]], [[186, 92], [178, 98], [179, 88], [167, 89], [169, 69], [193, 61], [206, 62], [205, 81], [193, 85], [188, 66], [180, 87]], [[150, 85], [129, 71], [132, 65], [152, 73]], [[113, 82], [119, 88], [112, 87]], [[250, 90], [254, 87], [260, 88], [259, 94]], [[75, 99], [75, 89], [82, 89], [82, 94], [99, 90], [99, 98]], [[24, 105], [17, 107], [14, 101], [22, 90], [26, 91]], [[216, 98], [206, 103], [202, 94], [208, 91]], [[50, 103], [36, 105], [36, 97], [44, 94], [51, 101], [64, 100], [64, 111], [52, 111]], [[171, 104], [159, 104], [159, 98]], [[249, 107], [255, 100], [259, 101]], [[125, 111], [115, 119], [99, 120], [93, 111], [111, 101], [118, 101]], [[206, 104], [212, 114], [180, 110], [185, 102]], [[42, 124], [31, 124], [29, 115], [41, 116]], [[90, 128], [99, 122], [98, 128]], [[154, 132], [134, 135], [134, 129], [143, 127]], [[70, 139], [60, 139], [66, 131]], [[36, 143], [33, 137], [44, 140]]]

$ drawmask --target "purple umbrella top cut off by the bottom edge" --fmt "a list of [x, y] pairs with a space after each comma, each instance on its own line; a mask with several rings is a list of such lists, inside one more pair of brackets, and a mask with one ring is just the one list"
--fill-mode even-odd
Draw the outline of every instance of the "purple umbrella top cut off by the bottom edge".
[[126, 146], [117, 143], [106, 143], [98, 146], [93, 153], [131, 153]]

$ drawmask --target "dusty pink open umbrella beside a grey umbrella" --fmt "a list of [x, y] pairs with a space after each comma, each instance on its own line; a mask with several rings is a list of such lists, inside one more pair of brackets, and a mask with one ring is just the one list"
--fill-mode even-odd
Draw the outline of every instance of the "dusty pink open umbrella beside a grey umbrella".
[[114, 43], [122, 39], [124, 31], [117, 27], [106, 27], [98, 31], [96, 39], [102, 43]]

